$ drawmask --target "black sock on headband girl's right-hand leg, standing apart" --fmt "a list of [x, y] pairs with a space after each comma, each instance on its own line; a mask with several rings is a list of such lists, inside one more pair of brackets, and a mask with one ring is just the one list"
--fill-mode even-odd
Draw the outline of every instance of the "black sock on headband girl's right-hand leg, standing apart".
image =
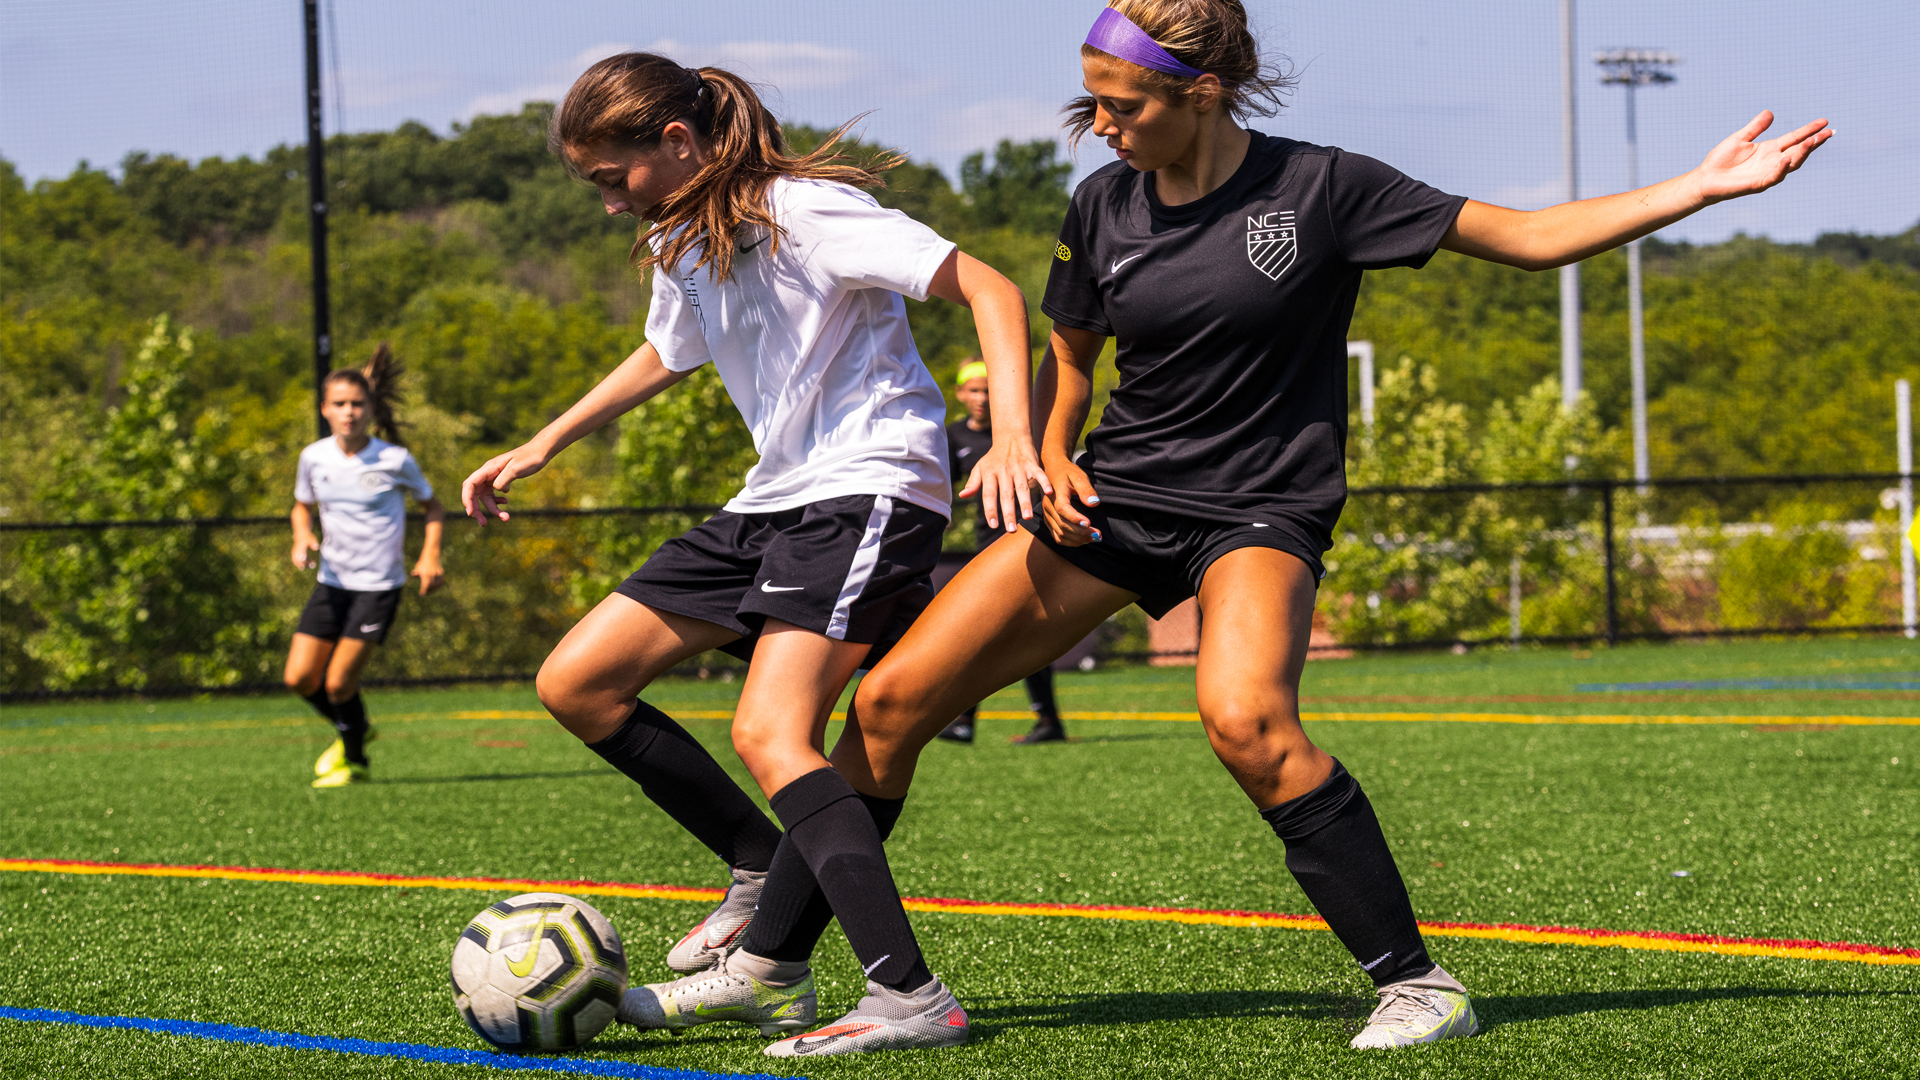
[[1300, 890], [1375, 986], [1434, 969], [1380, 819], [1346, 767], [1334, 761], [1319, 788], [1260, 817], [1286, 844], [1286, 869]]

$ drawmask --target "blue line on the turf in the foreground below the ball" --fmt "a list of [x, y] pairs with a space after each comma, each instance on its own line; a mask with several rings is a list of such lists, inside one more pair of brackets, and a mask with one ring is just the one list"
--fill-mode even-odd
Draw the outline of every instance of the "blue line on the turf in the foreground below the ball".
[[182, 1036], [190, 1040], [240, 1042], [275, 1045], [280, 1049], [326, 1049], [332, 1053], [361, 1053], [367, 1057], [407, 1057], [413, 1061], [432, 1061], [436, 1065], [478, 1065], [482, 1068], [503, 1068], [513, 1072], [545, 1070], [574, 1072], [578, 1076], [637, 1076], [641, 1080], [776, 1080], [764, 1072], [705, 1072], [701, 1068], [660, 1068], [657, 1065], [634, 1065], [628, 1061], [488, 1053], [480, 1049], [455, 1049], [447, 1045], [420, 1045], [411, 1042], [336, 1040], [324, 1036], [301, 1036], [294, 1032], [269, 1032], [265, 1028], [236, 1028], [232, 1024], [202, 1024], [200, 1020], [94, 1017], [90, 1013], [67, 1013], [65, 1009], [12, 1009], [0, 1005], [0, 1020], [79, 1024], [84, 1028], [131, 1028], [136, 1032]]

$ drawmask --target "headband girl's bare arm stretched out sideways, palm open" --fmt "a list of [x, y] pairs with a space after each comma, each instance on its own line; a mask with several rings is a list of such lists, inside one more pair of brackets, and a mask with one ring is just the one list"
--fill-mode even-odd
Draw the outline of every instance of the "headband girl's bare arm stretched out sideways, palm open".
[[1774, 113], [1763, 111], [1715, 146], [1697, 169], [1649, 188], [1534, 211], [1469, 200], [1440, 246], [1528, 271], [1619, 248], [1701, 208], [1778, 184], [1834, 136], [1826, 121], [1816, 119], [1780, 138], [1755, 142], [1772, 123]]

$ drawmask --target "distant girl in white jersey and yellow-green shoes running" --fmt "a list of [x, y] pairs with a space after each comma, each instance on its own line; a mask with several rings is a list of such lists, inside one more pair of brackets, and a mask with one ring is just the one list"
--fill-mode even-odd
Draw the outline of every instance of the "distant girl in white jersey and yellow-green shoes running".
[[[334, 432], [300, 452], [294, 479], [294, 565], [313, 567], [311, 553], [319, 552], [321, 573], [286, 651], [286, 684], [340, 732], [313, 763], [315, 788], [367, 780], [371, 728], [359, 680], [372, 650], [392, 632], [407, 584], [401, 492], [426, 511], [426, 540], [413, 565], [420, 596], [445, 578], [440, 569], [445, 509], [399, 440], [397, 377], [399, 365], [386, 342], [365, 369], [328, 375], [321, 384], [321, 415]], [[386, 438], [367, 434], [374, 425]], [[319, 540], [313, 538], [315, 509]]]

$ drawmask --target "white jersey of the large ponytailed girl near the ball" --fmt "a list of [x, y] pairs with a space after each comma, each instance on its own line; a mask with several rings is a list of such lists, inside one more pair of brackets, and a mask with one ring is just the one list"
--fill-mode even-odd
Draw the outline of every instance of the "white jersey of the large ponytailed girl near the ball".
[[772, 513], [841, 496], [889, 496], [948, 515], [947, 402], [900, 296], [927, 298], [954, 250], [858, 188], [780, 179], [785, 231], [733, 240], [733, 275], [653, 275], [647, 340], [672, 371], [712, 361], [760, 461], [726, 509]]

